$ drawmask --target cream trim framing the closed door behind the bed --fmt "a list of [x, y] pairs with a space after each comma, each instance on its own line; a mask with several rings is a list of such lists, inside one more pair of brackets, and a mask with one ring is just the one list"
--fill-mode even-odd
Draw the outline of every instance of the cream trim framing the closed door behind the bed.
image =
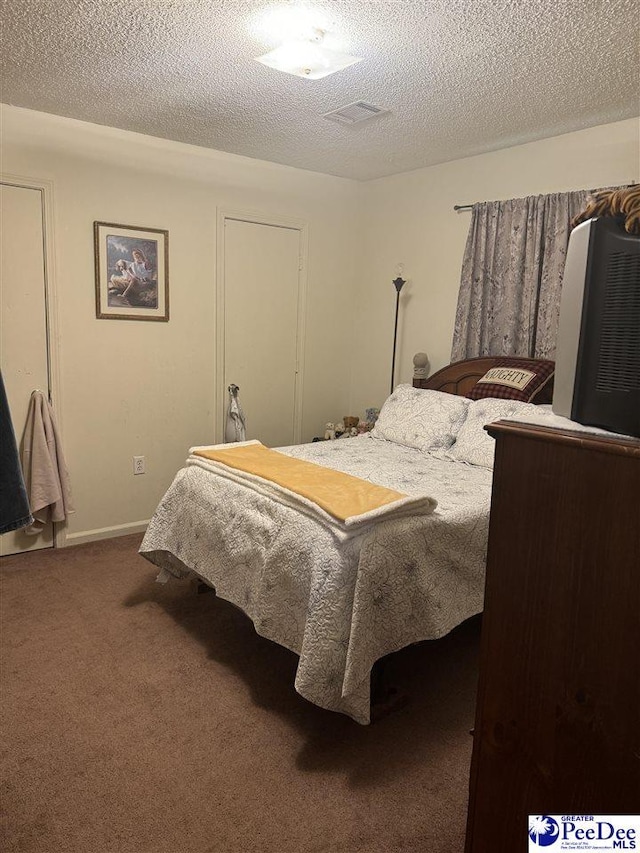
[[309, 226], [301, 219], [277, 216], [269, 213], [220, 208], [217, 211], [217, 258], [216, 258], [216, 369], [215, 375], [215, 423], [214, 440], [224, 441], [224, 419], [226, 395], [224, 388], [225, 374], [225, 240], [224, 226], [227, 221], [250, 222], [254, 225], [267, 225], [275, 228], [289, 228], [298, 232], [299, 263], [298, 263], [298, 318], [296, 328], [296, 380], [293, 398], [293, 441], [299, 444], [302, 439], [302, 401], [304, 386], [304, 353], [306, 340], [307, 319], [307, 266], [309, 256]]

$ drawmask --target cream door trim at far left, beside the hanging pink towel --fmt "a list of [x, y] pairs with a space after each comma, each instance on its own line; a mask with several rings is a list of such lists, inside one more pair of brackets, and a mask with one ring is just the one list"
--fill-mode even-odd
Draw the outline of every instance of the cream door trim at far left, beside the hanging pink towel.
[[[56, 288], [54, 211], [55, 193], [53, 181], [46, 178], [31, 178], [0, 171], [0, 184], [19, 189], [35, 190], [40, 193], [42, 215], [42, 258], [44, 263], [44, 308], [45, 338], [47, 349], [47, 389], [49, 399], [56, 407], [56, 425], [64, 437], [62, 383], [60, 381], [58, 294]], [[66, 528], [64, 523], [53, 523], [53, 547], [64, 547]]]

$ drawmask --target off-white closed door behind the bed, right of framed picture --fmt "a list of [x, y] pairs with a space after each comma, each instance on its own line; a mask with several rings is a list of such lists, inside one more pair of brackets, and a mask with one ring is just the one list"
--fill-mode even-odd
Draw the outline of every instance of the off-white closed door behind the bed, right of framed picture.
[[302, 232], [224, 219], [224, 400], [235, 384], [247, 439], [300, 438]]

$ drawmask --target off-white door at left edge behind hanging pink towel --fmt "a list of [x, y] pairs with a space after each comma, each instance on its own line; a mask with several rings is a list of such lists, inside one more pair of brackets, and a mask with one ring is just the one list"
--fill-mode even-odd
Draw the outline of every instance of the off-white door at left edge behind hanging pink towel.
[[[49, 393], [42, 191], [0, 184], [0, 367], [21, 447], [31, 392]], [[38, 536], [0, 536], [0, 555], [53, 546]]]

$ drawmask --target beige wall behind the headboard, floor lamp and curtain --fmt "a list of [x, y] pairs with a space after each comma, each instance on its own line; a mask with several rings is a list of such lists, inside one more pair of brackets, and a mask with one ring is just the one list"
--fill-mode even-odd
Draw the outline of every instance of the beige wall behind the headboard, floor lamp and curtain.
[[389, 392], [399, 262], [408, 283], [398, 381], [411, 381], [418, 351], [429, 354], [432, 370], [449, 363], [470, 222], [469, 212], [455, 213], [454, 204], [638, 181], [639, 130], [630, 119], [365, 184], [351, 408], [380, 405]]

